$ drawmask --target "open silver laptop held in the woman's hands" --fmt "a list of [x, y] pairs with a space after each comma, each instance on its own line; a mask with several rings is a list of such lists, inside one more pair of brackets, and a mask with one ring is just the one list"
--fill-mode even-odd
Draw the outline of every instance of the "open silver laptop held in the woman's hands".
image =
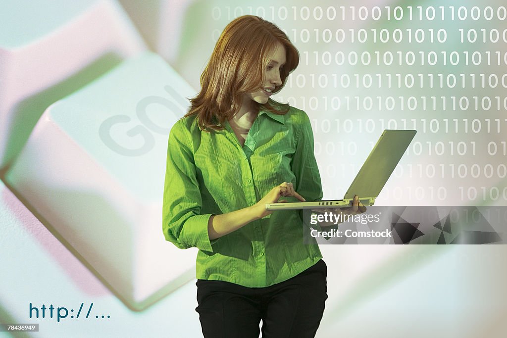
[[343, 200], [270, 203], [266, 204], [266, 209], [343, 208], [352, 206], [354, 195], [359, 197], [359, 202], [363, 205], [373, 205], [415, 134], [415, 130], [384, 130], [363, 167], [350, 184]]

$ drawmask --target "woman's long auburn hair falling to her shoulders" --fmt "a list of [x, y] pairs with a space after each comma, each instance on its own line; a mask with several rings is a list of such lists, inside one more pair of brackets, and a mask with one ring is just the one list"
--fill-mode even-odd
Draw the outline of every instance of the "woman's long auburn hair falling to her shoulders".
[[[190, 101], [187, 116], [197, 116], [204, 131], [224, 129], [223, 123], [231, 119], [241, 107], [243, 95], [258, 91], [263, 85], [267, 54], [278, 43], [285, 47], [286, 63], [280, 70], [285, 85], [289, 73], [299, 64], [299, 53], [287, 35], [275, 24], [258, 16], [244, 15], [231, 21], [220, 35], [206, 68], [201, 74], [201, 91]], [[265, 104], [252, 101], [253, 107], [283, 115], [288, 111], [272, 99]], [[257, 105], [257, 106], [256, 106]]]

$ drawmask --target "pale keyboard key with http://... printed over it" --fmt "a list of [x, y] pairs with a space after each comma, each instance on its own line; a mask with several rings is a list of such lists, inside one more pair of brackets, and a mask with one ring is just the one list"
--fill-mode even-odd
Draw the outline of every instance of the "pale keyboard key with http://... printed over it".
[[[199, 315], [194, 310], [197, 307], [195, 279], [156, 305], [141, 312], [131, 311], [30, 213], [2, 181], [0, 276], [0, 322], [39, 323], [39, 332], [33, 336], [202, 335]], [[54, 308], [52, 315], [51, 305]], [[44, 317], [42, 306], [46, 308]], [[10, 336], [6, 333], [0, 332], [0, 337]]]

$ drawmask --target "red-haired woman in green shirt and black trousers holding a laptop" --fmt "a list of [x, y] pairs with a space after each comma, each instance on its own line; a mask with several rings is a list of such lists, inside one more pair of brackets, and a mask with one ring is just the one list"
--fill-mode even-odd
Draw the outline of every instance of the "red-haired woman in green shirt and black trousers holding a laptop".
[[205, 337], [313, 337], [327, 299], [318, 245], [297, 211], [267, 203], [322, 198], [310, 121], [270, 98], [299, 63], [274, 24], [225, 28], [188, 114], [171, 129], [165, 238], [197, 247], [196, 311]]

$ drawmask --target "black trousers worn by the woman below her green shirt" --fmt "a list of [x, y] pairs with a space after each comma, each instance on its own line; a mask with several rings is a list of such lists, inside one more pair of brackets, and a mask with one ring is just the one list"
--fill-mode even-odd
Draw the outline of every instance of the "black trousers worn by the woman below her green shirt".
[[281, 283], [250, 288], [197, 280], [197, 302], [205, 338], [314, 337], [328, 298], [328, 268], [321, 259]]

